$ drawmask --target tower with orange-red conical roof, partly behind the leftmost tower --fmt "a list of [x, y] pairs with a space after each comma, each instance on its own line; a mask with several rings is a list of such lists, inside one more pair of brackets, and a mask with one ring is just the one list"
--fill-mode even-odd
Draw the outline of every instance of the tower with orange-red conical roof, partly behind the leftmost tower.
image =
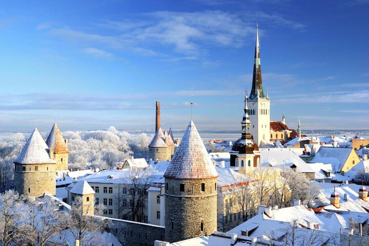
[[68, 169], [68, 142], [63, 138], [62, 132], [55, 123], [52, 126], [50, 134], [46, 139], [46, 144], [49, 148], [54, 149], [54, 159], [56, 160], [56, 170]]

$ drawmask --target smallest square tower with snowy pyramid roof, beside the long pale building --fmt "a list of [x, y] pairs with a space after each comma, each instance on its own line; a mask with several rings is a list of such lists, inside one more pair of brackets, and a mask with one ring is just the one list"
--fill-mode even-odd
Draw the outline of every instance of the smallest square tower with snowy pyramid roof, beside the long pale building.
[[82, 202], [82, 214], [94, 215], [95, 191], [85, 180], [79, 180], [69, 191], [71, 206]]

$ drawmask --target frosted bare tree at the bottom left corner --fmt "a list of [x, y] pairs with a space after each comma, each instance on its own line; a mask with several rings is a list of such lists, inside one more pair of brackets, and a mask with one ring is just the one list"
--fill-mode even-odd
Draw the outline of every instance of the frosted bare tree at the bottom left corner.
[[0, 238], [3, 246], [14, 245], [23, 237], [25, 214], [22, 197], [13, 190], [0, 194]]

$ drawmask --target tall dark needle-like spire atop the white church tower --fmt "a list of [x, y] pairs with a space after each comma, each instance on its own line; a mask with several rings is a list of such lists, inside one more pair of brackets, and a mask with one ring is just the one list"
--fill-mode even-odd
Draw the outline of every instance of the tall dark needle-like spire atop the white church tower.
[[261, 64], [260, 64], [260, 46], [259, 46], [259, 30], [256, 24], [256, 44], [255, 44], [255, 59], [254, 59], [254, 73], [252, 75], [252, 89], [250, 99], [265, 98], [261, 80]]

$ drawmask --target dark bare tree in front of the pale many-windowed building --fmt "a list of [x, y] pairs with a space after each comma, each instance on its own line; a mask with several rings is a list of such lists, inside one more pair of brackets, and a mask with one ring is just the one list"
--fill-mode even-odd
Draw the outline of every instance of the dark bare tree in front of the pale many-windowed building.
[[146, 209], [148, 197], [146, 190], [152, 174], [153, 170], [149, 167], [125, 170], [125, 177], [121, 179], [118, 194], [114, 197], [117, 200], [116, 206], [120, 218], [128, 216], [132, 221], [142, 221], [140, 218], [144, 216]]

